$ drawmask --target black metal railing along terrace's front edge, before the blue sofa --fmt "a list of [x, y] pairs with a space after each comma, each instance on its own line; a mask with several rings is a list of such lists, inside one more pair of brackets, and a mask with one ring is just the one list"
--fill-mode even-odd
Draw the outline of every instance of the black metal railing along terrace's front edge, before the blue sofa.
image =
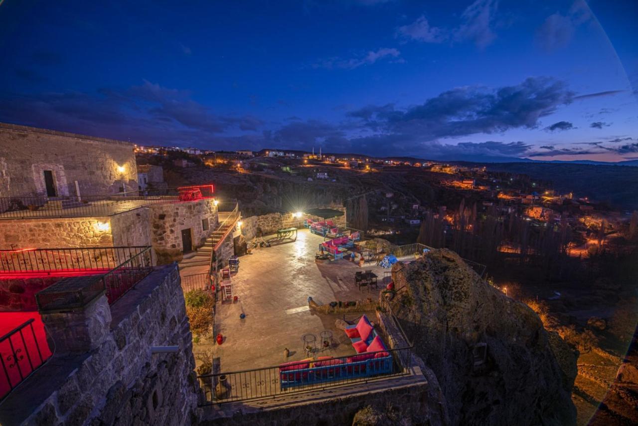
[[[348, 362], [357, 354], [338, 356], [327, 365], [309, 366], [309, 361], [287, 363], [262, 369], [203, 374], [198, 376], [205, 393], [205, 404], [221, 404], [290, 395], [308, 390], [325, 389], [344, 384], [365, 383], [380, 377], [407, 376], [412, 360], [412, 347], [386, 349], [369, 354], [377, 356], [364, 361]], [[360, 354], [359, 354], [360, 355]], [[314, 365], [319, 362], [311, 361]], [[308, 367], [306, 367], [308, 365]], [[281, 370], [286, 368], [287, 370]], [[217, 389], [219, 383], [222, 383]]]

